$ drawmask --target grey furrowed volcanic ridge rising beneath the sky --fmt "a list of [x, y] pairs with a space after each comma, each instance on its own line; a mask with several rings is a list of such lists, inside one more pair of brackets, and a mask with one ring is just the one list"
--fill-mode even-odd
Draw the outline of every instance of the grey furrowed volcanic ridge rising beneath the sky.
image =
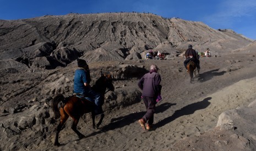
[[[89, 62], [141, 59], [149, 49], [175, 56], [188, 44], [199, 52], [210, 48], [219, 55], [252, 42], [231, 30], [214, 30], [202, 22], [140, 13], [0, 20], [0, 39], [1, 61], [13, 64], [10, 62], [15, 60], [29, 68], [46, 69], [67, 66], [85, 56], [90, 56]], [[15, 66], [4, 65], [8, 67]]]

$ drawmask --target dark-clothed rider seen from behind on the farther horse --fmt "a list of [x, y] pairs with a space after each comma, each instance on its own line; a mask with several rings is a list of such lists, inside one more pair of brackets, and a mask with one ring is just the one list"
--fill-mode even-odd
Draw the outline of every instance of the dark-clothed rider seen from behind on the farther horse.
[[187, 69], [187, 63], [192, 60], [195, 62], [195, 64], [197, 65], [197, 69], [199, 70], [200, 69], [200, 65], [199, 65], [199, 60], [198, 60], [198, 57], [197, 57], [197, 53], [195, 52], [194, 49], [192, 49], [192, 45], [189, 44], [188, 45], [188, 49], [186, 50], [185, 52], [185, 57], [186, 57], [186, 60], [184, 61], [184, 66], [186, 68], [186, 70], [188, 71]]

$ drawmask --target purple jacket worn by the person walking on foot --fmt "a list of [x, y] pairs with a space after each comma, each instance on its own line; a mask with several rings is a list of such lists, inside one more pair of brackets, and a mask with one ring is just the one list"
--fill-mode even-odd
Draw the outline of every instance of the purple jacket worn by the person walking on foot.
[[158, 85], [161, 77], [158, 73], [146, 73], [139, 80], [138, 86], [142, 90], [142, 96], [156, 97], [159, 93]]

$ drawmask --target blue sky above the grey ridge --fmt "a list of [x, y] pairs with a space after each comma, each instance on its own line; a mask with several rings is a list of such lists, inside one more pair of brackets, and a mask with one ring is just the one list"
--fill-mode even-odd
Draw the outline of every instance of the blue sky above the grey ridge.
[[[152, 13], [164, 18], [201, 21], [256, 39], [255, 0], [0, 0], [0, 19], [16, 20], [69, 13]], [[1, 28], [1, 27], [0, 27]]]

